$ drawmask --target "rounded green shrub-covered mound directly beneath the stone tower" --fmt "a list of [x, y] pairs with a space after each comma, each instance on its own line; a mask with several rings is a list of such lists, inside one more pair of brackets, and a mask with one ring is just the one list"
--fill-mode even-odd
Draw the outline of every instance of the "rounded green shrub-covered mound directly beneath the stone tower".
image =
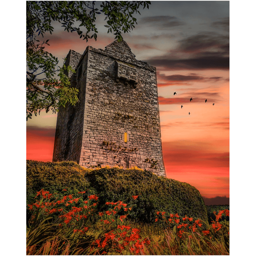
[[[177, 180], [159, 177], [138, 168], [104, 167], [85, 169], [75, 162], [37, 162], [27, 160], [27, 203], [33, 202], [41, 189], [50, 193], [67, 189], [74, 197], [79, 191], [99, 196], [102, 210], [106, 202], [123, 201], [132, 206], [129, 216], [134, 220], [154, 222], [156, 211], [178, 213], [180, 217], [207, 221], [207, 211], [199, 191]], [[132, 196], [139, 195], [137, 200]]]

